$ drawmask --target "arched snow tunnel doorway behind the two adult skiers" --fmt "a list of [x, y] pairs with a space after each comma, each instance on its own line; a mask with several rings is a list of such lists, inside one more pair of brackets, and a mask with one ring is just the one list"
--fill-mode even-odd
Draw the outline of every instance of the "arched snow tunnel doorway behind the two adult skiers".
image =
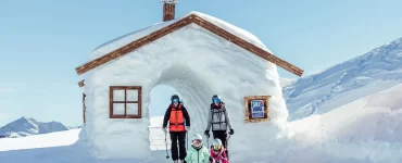
[[[161, 95], [153, 95], [154, 91]], [[191, 129], [188, 133], [188, 143], [194, 134], [203, 135], [206, 127], [210, 99], [215, 93], [213, 86], [197, 75], [189, 66], [176, 64], [166, 68], [151, 88], [149, 93], [151, 102], [148, 106], [150, 117], [150, 148], [151, 150], [166, 150], [165, 135], [162, 131], [163, 115], [169, 104], [169, 98], [177, 93], [190, 115]], [[152, 99], [153, 98], [153, 99]], [[162, 99], [163, 98], [163, 99]], [[161, 103], [155, 103], [160, 102]], [[156, 111], [155, 111], [156, 110]], [[158, 118], [154, 118], [158, 115]], [[160, 124], [159, 124], [160, 123]], [[167, 149], [171, 149], [171, 141], [167, 134]]]

